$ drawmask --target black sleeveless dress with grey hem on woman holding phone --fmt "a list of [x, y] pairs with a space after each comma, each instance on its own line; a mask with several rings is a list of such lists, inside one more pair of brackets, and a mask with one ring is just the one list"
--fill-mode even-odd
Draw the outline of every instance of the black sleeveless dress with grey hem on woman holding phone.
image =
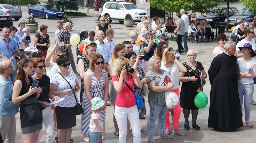
[[[20, 90], [19, 96], [22, 96], [24, 94], [26, 94], [29, 91], [30, 86], [33, 83], [33, 79], [32, 77], [29, 77], [30, 80], [30, 85], [28, 86], [22, 79], [20, 79], [20, 81], [22, 82], [22, 89]], [[41, 130], [43, 128], [42, 123], [43, 123], [43, 117], [39, 117], [36, 118], [34, 120], [29, 120], [23, 105], [25, 107], [33, 105], [35, 102], [37, 102], [37, 105], [39, 107], [39, 110], [42, 114], [42, 108], [41, 105], [39, 104], [38, 100], [35, 99], [36, 94], [32, 94], [29, 97], [27, 97], [26, 99], [24, 99], [22, 102], [22, 104], [20, 104], [20, 127], [22, 129], [22, 134], [27, 134], [27, 133], [31, 133], [37, 130]]]

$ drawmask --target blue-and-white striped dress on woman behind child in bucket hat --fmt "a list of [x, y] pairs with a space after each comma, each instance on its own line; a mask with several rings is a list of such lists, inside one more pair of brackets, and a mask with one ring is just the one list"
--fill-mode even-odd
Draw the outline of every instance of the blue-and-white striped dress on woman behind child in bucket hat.
[[[86, 71], [86, 74], [89, 74], [91, 77], [91, 88], [90, 88], [91, 98], [99, 97], [102, 100], [104, 100], [104, 86], [106, 85], [106, 81], [105, 81], [106, 71], [101, 70], [100, 81], [97, 80], [93, 71], [91, 71], [90, 69]], [[82, 119], [81, 119], [81, 134], [89, 134], [89, 128], [90, 128], [89, 125], [90, 125], [90, 119], [91, 119], [91, 115], [89, 114], [89, 111], [91, 109], [91, 103], [89, 102], [85, 92], [83, 94], [83, 109], [84, 109], [84, 113], [82, 114]], [[103, 130], [105, 130], [106, 110], [101, 111], [101, 115], [103, 119]]]

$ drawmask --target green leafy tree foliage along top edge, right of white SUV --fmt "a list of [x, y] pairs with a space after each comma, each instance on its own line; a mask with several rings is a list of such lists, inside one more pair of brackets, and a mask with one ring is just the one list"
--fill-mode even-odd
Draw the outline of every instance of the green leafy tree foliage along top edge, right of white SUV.
[[[210, 8], [217, 7], [220, 0], [215, 0], [214, 3], [208, 0], [148, 0], [150, 6], [160, 10], [169, 12], [180, 12], [180, 9], [185, 11], [194, 11], [200, 13], [209, 13]], [[187, 13], [187, 12], [185, 12]]]

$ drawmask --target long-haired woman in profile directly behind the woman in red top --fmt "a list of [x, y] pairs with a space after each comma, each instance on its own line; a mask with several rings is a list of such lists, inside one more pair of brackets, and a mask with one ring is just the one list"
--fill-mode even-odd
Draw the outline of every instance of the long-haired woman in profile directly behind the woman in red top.
[[[125, 46], [123, 44], [116, 44], [116, 46], [114, 48], [112, 59], [109, 61], [109, 64], [108, 64], [108, 70], [109, 70], [109, 74], [110, 74], [111, 77], [113, 76], [113, 74], [112, 74], [112, 65], [114, 64], [115, 60], [117, 58], [124, 57], [124, 56], [125, 56]], [[115, 90], [113, 84], [110, 84], [110, 101], [111, 101], [111, 104], [115, 108], [116, 90]], [[115, 127], [114, 134], [118, 137], [119, 136], [119, 130], [118, 130], [117, 122], [116, 122], [116, 117], [115, 117], [114, 114], [115, 114], [115, 112], [113, 113], [113, 122], [114, 122], [114, 127]]]

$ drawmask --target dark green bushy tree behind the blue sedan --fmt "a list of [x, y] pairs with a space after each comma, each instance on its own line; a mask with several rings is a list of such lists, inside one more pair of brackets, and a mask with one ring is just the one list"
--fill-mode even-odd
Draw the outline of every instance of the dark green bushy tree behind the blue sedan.
[[63, 12], [65, 10], [74, 10], [78, 11], [78, 0], [53, 0], [53, 5], [56, 5], [56, 8], [61, 8]]

